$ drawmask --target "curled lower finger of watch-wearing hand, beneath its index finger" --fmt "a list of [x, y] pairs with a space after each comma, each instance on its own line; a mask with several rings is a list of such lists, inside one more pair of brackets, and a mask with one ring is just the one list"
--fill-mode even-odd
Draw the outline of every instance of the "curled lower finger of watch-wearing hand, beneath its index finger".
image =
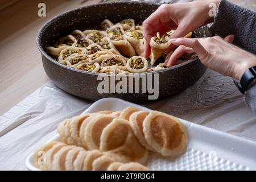
[[166, 57], [166, 61], [164, 63], [167, 64], [168, 67], [172, 67], [176, 64], [176, 61], [179, 59], [180, 56], [184, 55], [184, 53], [192, 53], [194, 52], [192, 48], [179, 46], [174, 53], [170, 53]]

